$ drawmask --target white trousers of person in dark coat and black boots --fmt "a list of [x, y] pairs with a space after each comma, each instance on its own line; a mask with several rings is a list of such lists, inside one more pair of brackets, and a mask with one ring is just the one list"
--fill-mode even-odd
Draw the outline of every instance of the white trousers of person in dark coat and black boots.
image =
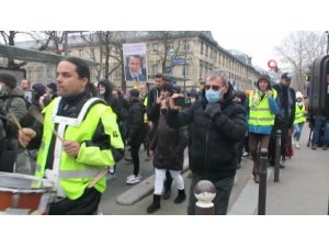
[[[183, 190], [184, 189], [184, 180], [183, 177], [181, 176], [180, 170], [169, 170], [170, 175], [173, 179], [173, 181], [177, 184], [177, 189]], [[163, 181], [166, 179], [166, 169], [158, 169], [155, 168], [156, 172], [156, 180], [155, 180], [155, 194], [162, 194], [163, 190]]]

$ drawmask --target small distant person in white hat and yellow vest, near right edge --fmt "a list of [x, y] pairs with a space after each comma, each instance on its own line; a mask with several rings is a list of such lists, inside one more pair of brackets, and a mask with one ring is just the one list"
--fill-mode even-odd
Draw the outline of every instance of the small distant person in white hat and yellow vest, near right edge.
[[294, 121], [294, 141], [297, 149], [300, 148], [299, 139], [303, 131], [304, 123], [306, 122], [306, 108], [303, 102], [303, 93], [296, 92], [296, 111]]

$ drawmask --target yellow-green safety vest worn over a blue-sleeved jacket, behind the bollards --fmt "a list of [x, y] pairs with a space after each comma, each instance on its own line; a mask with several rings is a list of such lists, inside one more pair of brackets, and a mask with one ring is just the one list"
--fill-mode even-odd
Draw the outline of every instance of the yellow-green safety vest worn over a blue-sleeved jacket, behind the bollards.
[[[276, 99], [277, 92], [272, 89], [272, 97]], [[259, 91], [256, 90], [254, 93], [249, 96], [249, 117], [248, 124], [254, 126], [271, 126], [274, 125], [275, 114], [270, 110], [268, 101], [268, 92], [261, 100], [259, 97]]]

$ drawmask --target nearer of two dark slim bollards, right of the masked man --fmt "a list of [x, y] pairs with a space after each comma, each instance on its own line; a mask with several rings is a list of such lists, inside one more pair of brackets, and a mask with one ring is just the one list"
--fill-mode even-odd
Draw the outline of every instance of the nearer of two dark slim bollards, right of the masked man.
[[268, 180], [268, 149], [260, 151], [260, 183], [258, 191], [258, 215], [265, 215], [266, 209], [266, 180]]

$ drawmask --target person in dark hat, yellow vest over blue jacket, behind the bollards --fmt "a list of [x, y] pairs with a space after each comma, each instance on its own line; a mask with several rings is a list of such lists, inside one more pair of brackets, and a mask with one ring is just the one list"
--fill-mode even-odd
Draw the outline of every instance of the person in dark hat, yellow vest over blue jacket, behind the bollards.
[[275, 101], [276, 91], [271, 86], [271, 79], [266, 75], [258, 78], [256, 90], [248, 98], [247, 120], [249, 132], [249, 148], [253, 160], [253, 180], [259, 183], [260, 177], [260, 150], [269, 148], [270, 135], [274, 125], [279, 106]]

